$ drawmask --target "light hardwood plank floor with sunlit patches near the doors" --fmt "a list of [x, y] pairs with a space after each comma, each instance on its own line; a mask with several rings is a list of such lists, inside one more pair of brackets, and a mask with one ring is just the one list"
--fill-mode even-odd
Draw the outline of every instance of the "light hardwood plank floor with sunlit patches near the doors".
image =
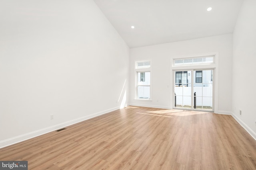
[[256, 141], [230, 115], [129, 106], [0, 149], [29, 170], [256, 170]]

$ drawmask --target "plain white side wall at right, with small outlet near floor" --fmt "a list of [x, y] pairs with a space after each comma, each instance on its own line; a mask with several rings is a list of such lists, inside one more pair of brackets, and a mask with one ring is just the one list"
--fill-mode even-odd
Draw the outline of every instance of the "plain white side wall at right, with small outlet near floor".
[[[256, 139], [256, 1], [244, 0], [233, 46], [232, 114]], [[242, 115], [239, 114], [242, 111]]]

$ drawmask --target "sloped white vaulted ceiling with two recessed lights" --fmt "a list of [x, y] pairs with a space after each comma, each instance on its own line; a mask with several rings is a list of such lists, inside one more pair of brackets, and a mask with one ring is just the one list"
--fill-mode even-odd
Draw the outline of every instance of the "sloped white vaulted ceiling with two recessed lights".
[[[232, 33], [243, 0], [94, 2], [133, 48]], [[212, 11], [207, 12], [208, 7], [212, 7]]]

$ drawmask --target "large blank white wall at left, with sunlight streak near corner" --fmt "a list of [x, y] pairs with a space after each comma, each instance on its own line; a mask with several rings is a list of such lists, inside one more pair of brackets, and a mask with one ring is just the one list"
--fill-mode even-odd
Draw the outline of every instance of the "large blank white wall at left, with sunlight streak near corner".
[[128, 58], [93, 0], [1, 0], [0, 147], [125, 105]]

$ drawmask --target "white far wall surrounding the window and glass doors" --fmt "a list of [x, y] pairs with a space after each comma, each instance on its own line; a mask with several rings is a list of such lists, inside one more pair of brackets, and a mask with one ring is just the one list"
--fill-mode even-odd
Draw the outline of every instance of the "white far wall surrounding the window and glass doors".
[[[179, 41], [130, 49], [130, 104], [135, 106], [172, 108], [171, 58], [218, 53], [218, 110], [231, 114], [232, 34]], [[151, 59], [152, 101], [135, 99], [135, 61]]]

